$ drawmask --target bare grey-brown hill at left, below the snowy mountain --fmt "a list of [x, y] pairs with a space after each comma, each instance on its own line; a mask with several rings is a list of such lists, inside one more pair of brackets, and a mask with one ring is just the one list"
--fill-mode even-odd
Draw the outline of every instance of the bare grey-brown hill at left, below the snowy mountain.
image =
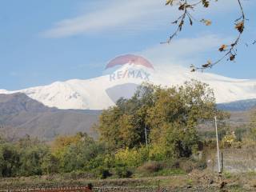
[[26, 134], [50, 140], [59, 134], [86, 132], [96, 137], [91, 126], [100, 110], [58, 110], [44, 106], [26, 94], [0, 94], [0, 134], [20, 138]]

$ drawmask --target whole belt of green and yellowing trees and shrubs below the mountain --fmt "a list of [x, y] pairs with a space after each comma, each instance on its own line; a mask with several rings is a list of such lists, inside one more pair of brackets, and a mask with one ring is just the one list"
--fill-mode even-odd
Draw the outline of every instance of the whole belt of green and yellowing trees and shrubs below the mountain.
[[102, 112], [94, 126], [97, 141], [82, 133], [50, 143], [29, 136], [18, 142], [0, 139], [0, 176], [86, 172], [99, 178], [125, 178], [201, 169], [206, 166], [203, 159], [188, 159], [202, 150], [198, 123], [215, 115], [226, 117], [216, 109], [214, 93], [206, 84], [191, 81], [171, 88], [145, 84], [132, 98], [120, 98]]

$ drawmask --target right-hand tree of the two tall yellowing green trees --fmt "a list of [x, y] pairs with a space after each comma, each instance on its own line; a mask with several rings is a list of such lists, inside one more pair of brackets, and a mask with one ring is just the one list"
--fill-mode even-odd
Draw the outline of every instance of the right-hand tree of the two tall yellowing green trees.
[[216, 109], [214, 92], [205, 83], [192, 80], [184, 86], [158, 87], [155, 95], [147, 116], [150, 139], [166, 146], [169, 156], [189, 157], [198, 146], [200, 120], [226, 116]]

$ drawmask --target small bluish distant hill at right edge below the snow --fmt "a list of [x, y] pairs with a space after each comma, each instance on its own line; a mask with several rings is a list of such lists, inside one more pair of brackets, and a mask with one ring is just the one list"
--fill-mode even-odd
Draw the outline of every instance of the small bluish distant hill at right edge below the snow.
[[256, 99], [246, 99], [237, 102], [226, 102], [218, 104], [218, 109], [220, 110], [230, 110], [230, 111], [243, 111], [251, 110], [256, 107]]

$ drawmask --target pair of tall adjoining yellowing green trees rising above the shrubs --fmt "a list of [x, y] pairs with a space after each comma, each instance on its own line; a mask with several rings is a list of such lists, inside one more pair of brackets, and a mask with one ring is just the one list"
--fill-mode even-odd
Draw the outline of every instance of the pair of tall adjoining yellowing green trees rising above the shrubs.
[[161, 145], [169, 156], [187, 157], [198, 144], [197, 126], [202, 119], [224, 118], [214, 92], [206, 84], [191, 81], [170, 88], [143, 84], [130, 99], [104, 110], [98, 125], [100, 138], [112, 150], [150, 143]]

